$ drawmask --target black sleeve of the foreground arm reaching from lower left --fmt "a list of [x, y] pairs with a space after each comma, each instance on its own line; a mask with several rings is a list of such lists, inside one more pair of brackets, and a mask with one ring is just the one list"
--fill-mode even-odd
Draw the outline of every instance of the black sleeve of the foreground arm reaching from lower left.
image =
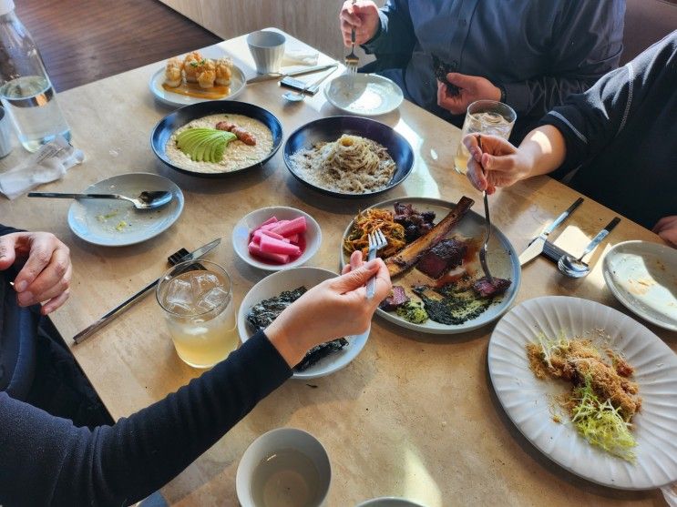
[[176, 393], [94, 431], [0, 392], [0, 504], [137, 502], [207, 451], [291, 375], [259, 332]]

